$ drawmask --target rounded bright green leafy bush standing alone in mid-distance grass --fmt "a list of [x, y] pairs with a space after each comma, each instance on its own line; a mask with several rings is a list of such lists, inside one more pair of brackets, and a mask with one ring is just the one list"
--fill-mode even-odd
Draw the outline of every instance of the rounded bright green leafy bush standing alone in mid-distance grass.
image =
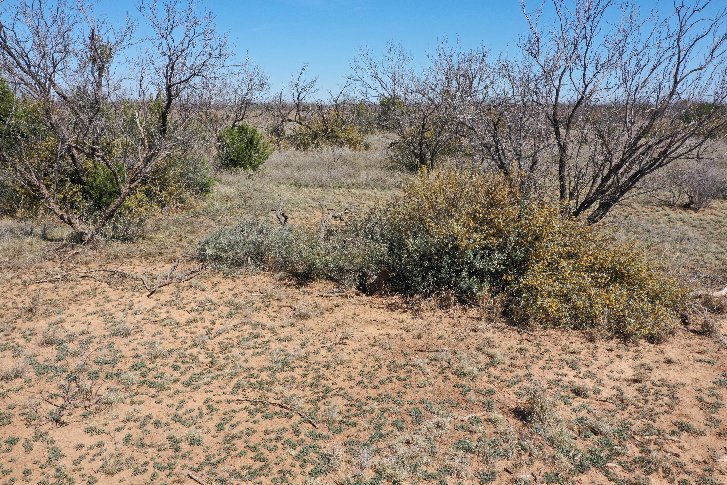
[[274, 150], [257, 128], [244, 123], [223, 129], [220, 142], [220, 165], [231, 170], [257, 169]]

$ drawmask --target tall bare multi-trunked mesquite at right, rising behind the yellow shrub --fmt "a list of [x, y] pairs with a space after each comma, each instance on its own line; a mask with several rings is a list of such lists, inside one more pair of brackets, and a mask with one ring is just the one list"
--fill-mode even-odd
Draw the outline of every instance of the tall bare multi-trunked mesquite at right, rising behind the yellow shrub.
[[[602, 220], [643, 177], [714, 153], [727, 127], [727, 31], [725, 10], [710, 17], [709, 3], [643, 20], [632, 2], [554, 0], [547, 28], [539, 12], [527, 14], [531, 103], [547, 118], [572, 215]], [[615, 25], [604, 20], [611, 9], [622, 13]]]

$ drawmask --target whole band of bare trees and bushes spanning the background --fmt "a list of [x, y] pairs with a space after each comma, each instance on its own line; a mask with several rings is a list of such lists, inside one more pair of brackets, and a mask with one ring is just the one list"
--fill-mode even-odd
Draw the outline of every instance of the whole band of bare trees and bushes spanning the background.
[[445, 39], [414, 63], [400, 45], [364, 45], [336, 89], [303, 64], [273, 91], [194, 0], [142, 0], [138, 21], [113, 22], [84, 1], [4, 2], [3, 209], [42, 204], [97, 241], [120, 210], [204, 192], [217, 170], [255, 169], [273, 149], [368, 149], [374, 132], [404, 169], [498, 172], [592, 223], [648, 191], [707, 204], [724, 179], [726, 9], [550, 7], [523, 1], [512, 52]]

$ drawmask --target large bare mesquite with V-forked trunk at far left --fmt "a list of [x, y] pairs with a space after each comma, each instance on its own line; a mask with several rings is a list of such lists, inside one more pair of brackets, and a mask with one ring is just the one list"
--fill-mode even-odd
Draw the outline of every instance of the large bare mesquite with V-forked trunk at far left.
[[[66, 0], [1, 7], [0, 161], [17, 181], [95, 241], [134, 188], [193, 145], [203, 88], [225, 74], [231, 52], [211, 12], [194, 2], [144, 0], [145, 37], [131, 20], [109, 23]], [[84, 220], [73, 196], [105, 167], [116, 196]]]

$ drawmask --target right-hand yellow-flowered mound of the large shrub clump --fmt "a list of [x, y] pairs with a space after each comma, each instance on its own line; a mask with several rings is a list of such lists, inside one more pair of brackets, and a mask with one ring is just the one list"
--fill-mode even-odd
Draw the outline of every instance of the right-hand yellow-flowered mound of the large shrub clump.
[[506, 280], [538, 323], [567, 329], [603, 325], [630, 337], [669, 332], [687, 294], [643, 246], [563, 217], [534, 244], [526, 271]]

